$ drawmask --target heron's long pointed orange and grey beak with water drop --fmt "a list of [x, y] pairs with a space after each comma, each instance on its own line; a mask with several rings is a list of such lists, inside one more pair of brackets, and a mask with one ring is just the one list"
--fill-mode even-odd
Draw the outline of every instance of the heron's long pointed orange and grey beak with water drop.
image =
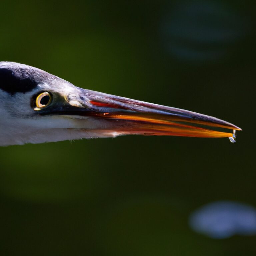
[[132, 100], [77, 88], [66, 97], [70, 108], [64, 113], [105, 120], [98, 130], [116, 135], [171, 135], [186, 137], [228, 137], [235, 142], [239, 127], [215, 117], [188, 110]]

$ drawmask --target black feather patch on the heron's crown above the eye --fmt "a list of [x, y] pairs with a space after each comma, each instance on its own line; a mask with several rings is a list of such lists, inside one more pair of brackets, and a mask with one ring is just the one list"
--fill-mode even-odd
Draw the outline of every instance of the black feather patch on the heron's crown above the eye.
[[0, 89], [15, 94], [16, 92], [29, 92], [37, 87], [37, 82], [30, 78], [21, 79], [7, 69], [0, 68]]

